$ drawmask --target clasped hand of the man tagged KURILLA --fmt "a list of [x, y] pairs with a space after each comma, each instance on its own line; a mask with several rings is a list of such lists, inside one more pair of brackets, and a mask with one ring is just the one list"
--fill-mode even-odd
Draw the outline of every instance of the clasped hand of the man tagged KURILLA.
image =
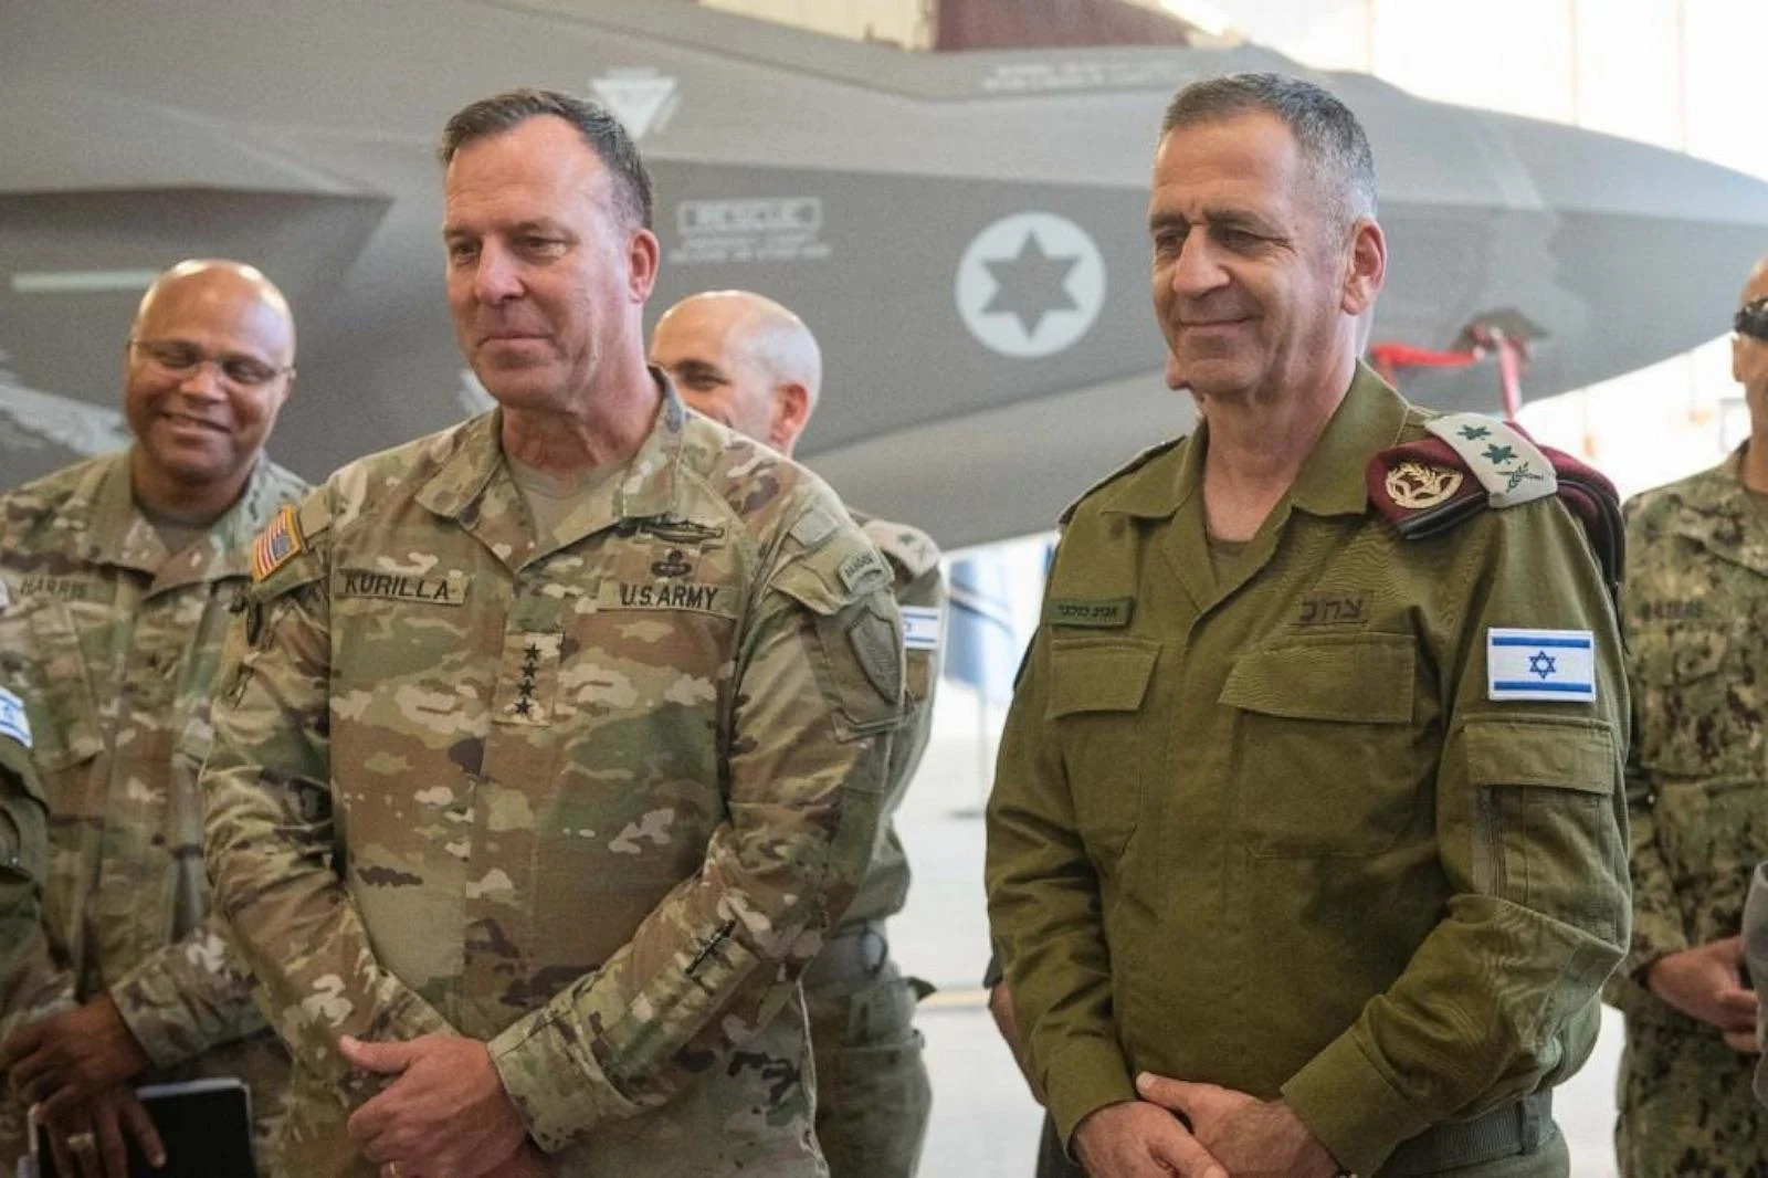
[[492, 1052], [476, 1038], [364, 1044], [345, 1035], [339, 1049], [354, 1067], [400, 1077], [355, 1111], [348, 1132], [370, 1162], [398, 1162], [401, 1178], [476, 1178], [529, 1141]]

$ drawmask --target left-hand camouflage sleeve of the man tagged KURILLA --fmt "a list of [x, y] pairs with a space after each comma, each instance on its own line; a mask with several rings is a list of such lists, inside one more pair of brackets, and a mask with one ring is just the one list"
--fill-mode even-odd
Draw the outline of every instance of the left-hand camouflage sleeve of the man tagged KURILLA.
[[[309, 501], [301, 518], [313, 515]], [[233, 623], [202, 775], [205, 854], [214, 911], [263, 985], [276, 1033], [302, 1067], [359, 1104], [373, 1081], [338, 1054], [341, 1035], [415, 1038], [453, 1028], [375, 959], [336, 863], [327, 539], [309, 536], [306, 550], [253, 585]]]

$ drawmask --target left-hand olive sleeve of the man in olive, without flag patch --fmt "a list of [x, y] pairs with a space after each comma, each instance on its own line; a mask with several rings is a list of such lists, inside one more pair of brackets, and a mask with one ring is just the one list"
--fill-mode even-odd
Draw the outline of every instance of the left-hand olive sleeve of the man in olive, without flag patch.
[[1013, 992], [1025, 1067], [1066, 1143], [1089, 1113], [1137, 1095], [1112, 1021], [1100, 881], [1045, 723], [1048, 677], [1040, 628], [1001, 734], [987, 884], [994, 952]]

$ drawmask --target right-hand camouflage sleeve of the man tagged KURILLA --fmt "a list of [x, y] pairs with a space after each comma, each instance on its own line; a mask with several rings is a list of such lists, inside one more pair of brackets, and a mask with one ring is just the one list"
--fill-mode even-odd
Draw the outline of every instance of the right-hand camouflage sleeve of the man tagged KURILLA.
[[492, 1040], [543, 1150], [661, 1105], [762, 1031], [870, 861], [902, 722], [882, 557], [843, 527], [789, 557], [751, 610], [725, 734], [728, 819], [704, 863], [606, 964]]

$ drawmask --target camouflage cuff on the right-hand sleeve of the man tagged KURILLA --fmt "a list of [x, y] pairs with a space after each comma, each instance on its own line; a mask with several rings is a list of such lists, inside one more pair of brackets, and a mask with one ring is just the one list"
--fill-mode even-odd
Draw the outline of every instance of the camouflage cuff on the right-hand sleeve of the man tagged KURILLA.
[[529, 1136], [559, 1153], [605, 1120], [638, 1113], [622, 1097], [576, 1026], [541, 1008], [506, 1028], [486, 1047]]

